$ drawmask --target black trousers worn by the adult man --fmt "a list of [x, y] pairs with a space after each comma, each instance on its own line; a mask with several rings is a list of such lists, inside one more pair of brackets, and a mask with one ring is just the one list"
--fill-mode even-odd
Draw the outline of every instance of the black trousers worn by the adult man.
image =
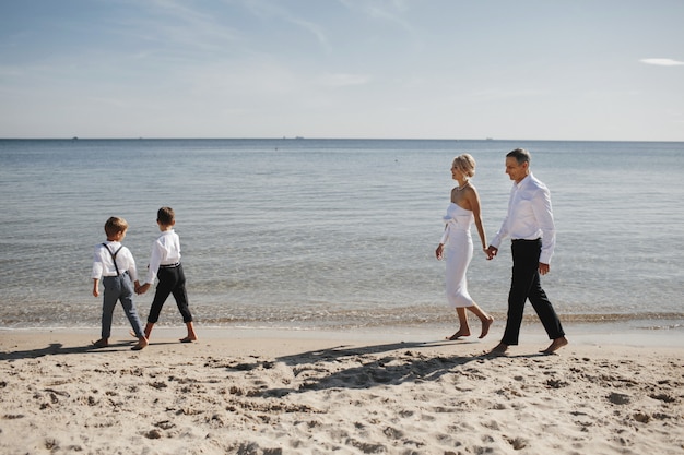
[[530, 299], [530, 303], [542, 321], [550, 339], [565, 336], [563, 326], [558, 320], [546, 292], [542, 289], [539, 275], [539, 256], [542, 252], [542, 241], [538, 240], [514, 240], [512, 251], [512, 278], [510, 280], [510, 291], [508, 294], [508, 320], [502, 343], [505, 345], [517, 345], [522, 324], [522, 313], [524, 303]]

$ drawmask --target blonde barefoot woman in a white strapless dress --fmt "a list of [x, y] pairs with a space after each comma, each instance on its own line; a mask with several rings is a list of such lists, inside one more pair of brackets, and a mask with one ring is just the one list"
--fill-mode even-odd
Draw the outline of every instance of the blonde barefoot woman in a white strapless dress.
[[475, 221], [482, 250], [487, 249], [487, 238], [482, 226], [480, 214], [480, 196], [477, 190], [470, 182], [470, 178], [475, 175], [475, 160], [469, 154], [463, 154], [453, 158], [451, 165], [451, 178], [458, 181], [458, 187], [451, 190], [451, 203], [444, 217], [446, 227], [439, 246], [435, 251], [437, 259], [441, 260], [446, 255], [446, 288], [447, 300], [459, 319], [459, 330], [447, 339], [459, 339], [462, 336], [470, 336], [468, 315], [465, 309], [472, 311], [482, 322], [480, 338], [484, 338], [490, 331], [494, 319], [482, 311], [468, 292], [468, 280], [465, 272], [473, 258], [473, 240], [470, 235], [470, 226]]

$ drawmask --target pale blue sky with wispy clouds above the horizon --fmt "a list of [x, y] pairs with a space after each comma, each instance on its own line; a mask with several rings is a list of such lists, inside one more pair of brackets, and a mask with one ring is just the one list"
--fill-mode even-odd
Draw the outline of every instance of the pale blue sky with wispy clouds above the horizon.
[[2, 0], [0, 137], [684, 141], [681, 0]]

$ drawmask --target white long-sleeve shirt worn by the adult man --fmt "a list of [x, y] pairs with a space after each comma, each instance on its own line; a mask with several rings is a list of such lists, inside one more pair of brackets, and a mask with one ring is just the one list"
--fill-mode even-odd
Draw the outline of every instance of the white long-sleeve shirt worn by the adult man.
[[532, 173], [520, 183], [514, 183], [508, 201], [508, 214], [491, 244], [499, 248], [506, 237], [511, 239], [542, 239], [539, 262], [551, 263], [556, 244], [556, 228], [551, 207], [551, 193]]

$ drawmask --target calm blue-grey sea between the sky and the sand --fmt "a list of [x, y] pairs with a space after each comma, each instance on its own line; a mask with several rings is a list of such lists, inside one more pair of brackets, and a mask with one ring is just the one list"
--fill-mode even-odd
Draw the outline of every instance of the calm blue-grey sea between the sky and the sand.
[[[492, 238], [518, 146], [552, 191], [543, 285], [562, 319], [681, 328], [684, 143], [308, 139], [0, 141], [0, 327], [97, 327], [90, 272], [105, 220], [129, 221], [144, 274], [163, 205], [176, 211], [198, 325], [451, 326], [434, 258], [451, 159], [476, 159]], [[506, 247], [494, 261], [476, 250], [469, 271], [500, 323], [510, 266]], [[142, 318], [152, 296], [137, 299]], [[173, 300], [160, 323], [181, 323]]]

